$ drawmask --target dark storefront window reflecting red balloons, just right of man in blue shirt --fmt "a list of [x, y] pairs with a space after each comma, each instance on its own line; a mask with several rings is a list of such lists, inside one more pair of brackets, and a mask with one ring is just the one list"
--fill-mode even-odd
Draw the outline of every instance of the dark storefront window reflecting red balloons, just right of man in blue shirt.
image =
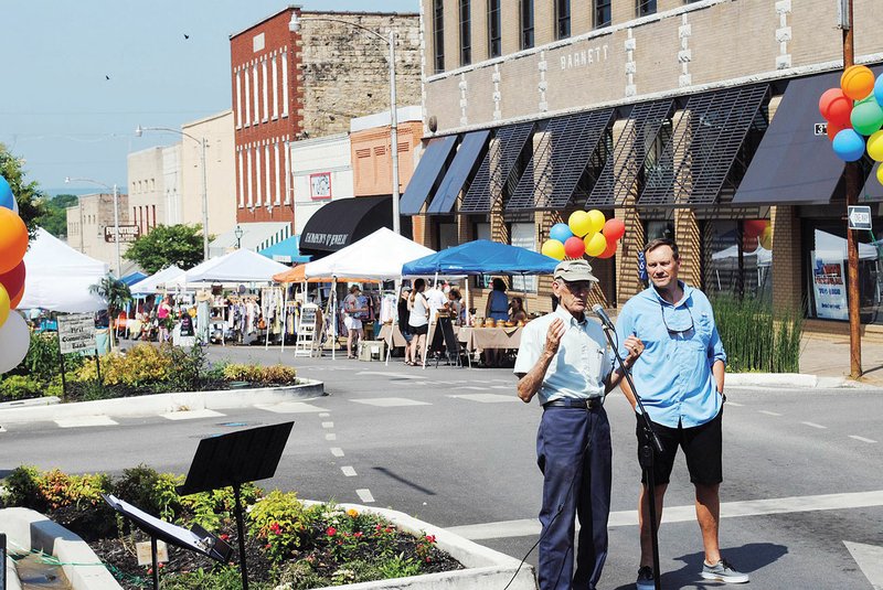
[[741, 244], [738, 222], [704, 223], [702, 279], [709, 296], [733, 293], [770, 300], [773, 251], [762, 244], [763, 228], [767, 222], [753, 219], [747, 223], [748, 227], [743, 226]]

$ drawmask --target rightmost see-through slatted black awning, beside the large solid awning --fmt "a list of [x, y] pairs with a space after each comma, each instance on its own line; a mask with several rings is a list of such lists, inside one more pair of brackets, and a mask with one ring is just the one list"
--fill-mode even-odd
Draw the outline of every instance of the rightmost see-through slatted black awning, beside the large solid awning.
[[762, 84], [691, 96], [638, 204], [714, 204], [768, 95], [769, 85]]

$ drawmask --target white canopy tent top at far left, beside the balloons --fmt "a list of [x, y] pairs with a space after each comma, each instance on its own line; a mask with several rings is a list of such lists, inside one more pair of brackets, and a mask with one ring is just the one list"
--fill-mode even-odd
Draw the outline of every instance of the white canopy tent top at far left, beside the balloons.
[[95, 312], [107, 303], [89, 287], [108, 272], [107, 262], [78, 253], [42, 227], [24, 255], [24, 297], [19, 309]]

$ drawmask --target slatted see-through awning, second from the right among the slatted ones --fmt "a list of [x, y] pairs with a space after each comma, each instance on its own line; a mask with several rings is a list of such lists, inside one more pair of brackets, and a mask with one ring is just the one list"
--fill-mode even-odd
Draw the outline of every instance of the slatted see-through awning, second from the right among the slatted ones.
[[635, 105], [604, 164], [598, 182], [586, 199], [585, 208], [607, 208], [625, 204], [626, 197], [635, 190], [635, 183], [638, 182], [638, 175], [659, 130], [670, 120], [673, 110], [674, 100], [671, 98]]

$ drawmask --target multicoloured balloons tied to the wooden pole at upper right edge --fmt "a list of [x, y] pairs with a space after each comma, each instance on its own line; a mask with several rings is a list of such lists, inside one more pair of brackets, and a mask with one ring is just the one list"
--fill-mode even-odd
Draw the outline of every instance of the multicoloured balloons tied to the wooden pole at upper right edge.
[[[828, 139], [838, 158], [854, 162], [866, 150], [872, 160], [883, 161], [883, 75], [874, 79], [866, 66], [848, 67], [840, 88], [822, 93], [819, 111], [828, 121]], [[877, 167], [876, 178], [883, 183], [883, 167]]]

